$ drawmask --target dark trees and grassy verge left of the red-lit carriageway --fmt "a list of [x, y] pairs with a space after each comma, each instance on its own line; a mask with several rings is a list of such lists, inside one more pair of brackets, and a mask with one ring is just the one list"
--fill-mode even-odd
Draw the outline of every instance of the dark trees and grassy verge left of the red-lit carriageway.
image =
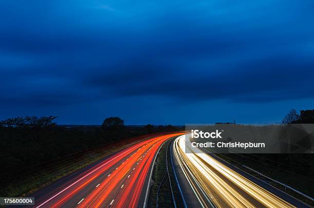
[[168, 126], [125, 126], [118, 117], [102, 125], [57, 125], [56, 117], [0, 122], [0, 196], [24, 196], [125, 148], [132, 137], [176, 131]]

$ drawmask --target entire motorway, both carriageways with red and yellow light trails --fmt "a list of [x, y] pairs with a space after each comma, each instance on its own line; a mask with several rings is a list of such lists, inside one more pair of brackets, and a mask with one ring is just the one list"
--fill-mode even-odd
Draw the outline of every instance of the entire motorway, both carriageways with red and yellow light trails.
[[187, 207], [308, 207], [217, 156], [197, 153], [184, 133], [143, 137], [29, 197], [34, 207], [145, 207], [154, 159], [172, 137], [173, 169]]

